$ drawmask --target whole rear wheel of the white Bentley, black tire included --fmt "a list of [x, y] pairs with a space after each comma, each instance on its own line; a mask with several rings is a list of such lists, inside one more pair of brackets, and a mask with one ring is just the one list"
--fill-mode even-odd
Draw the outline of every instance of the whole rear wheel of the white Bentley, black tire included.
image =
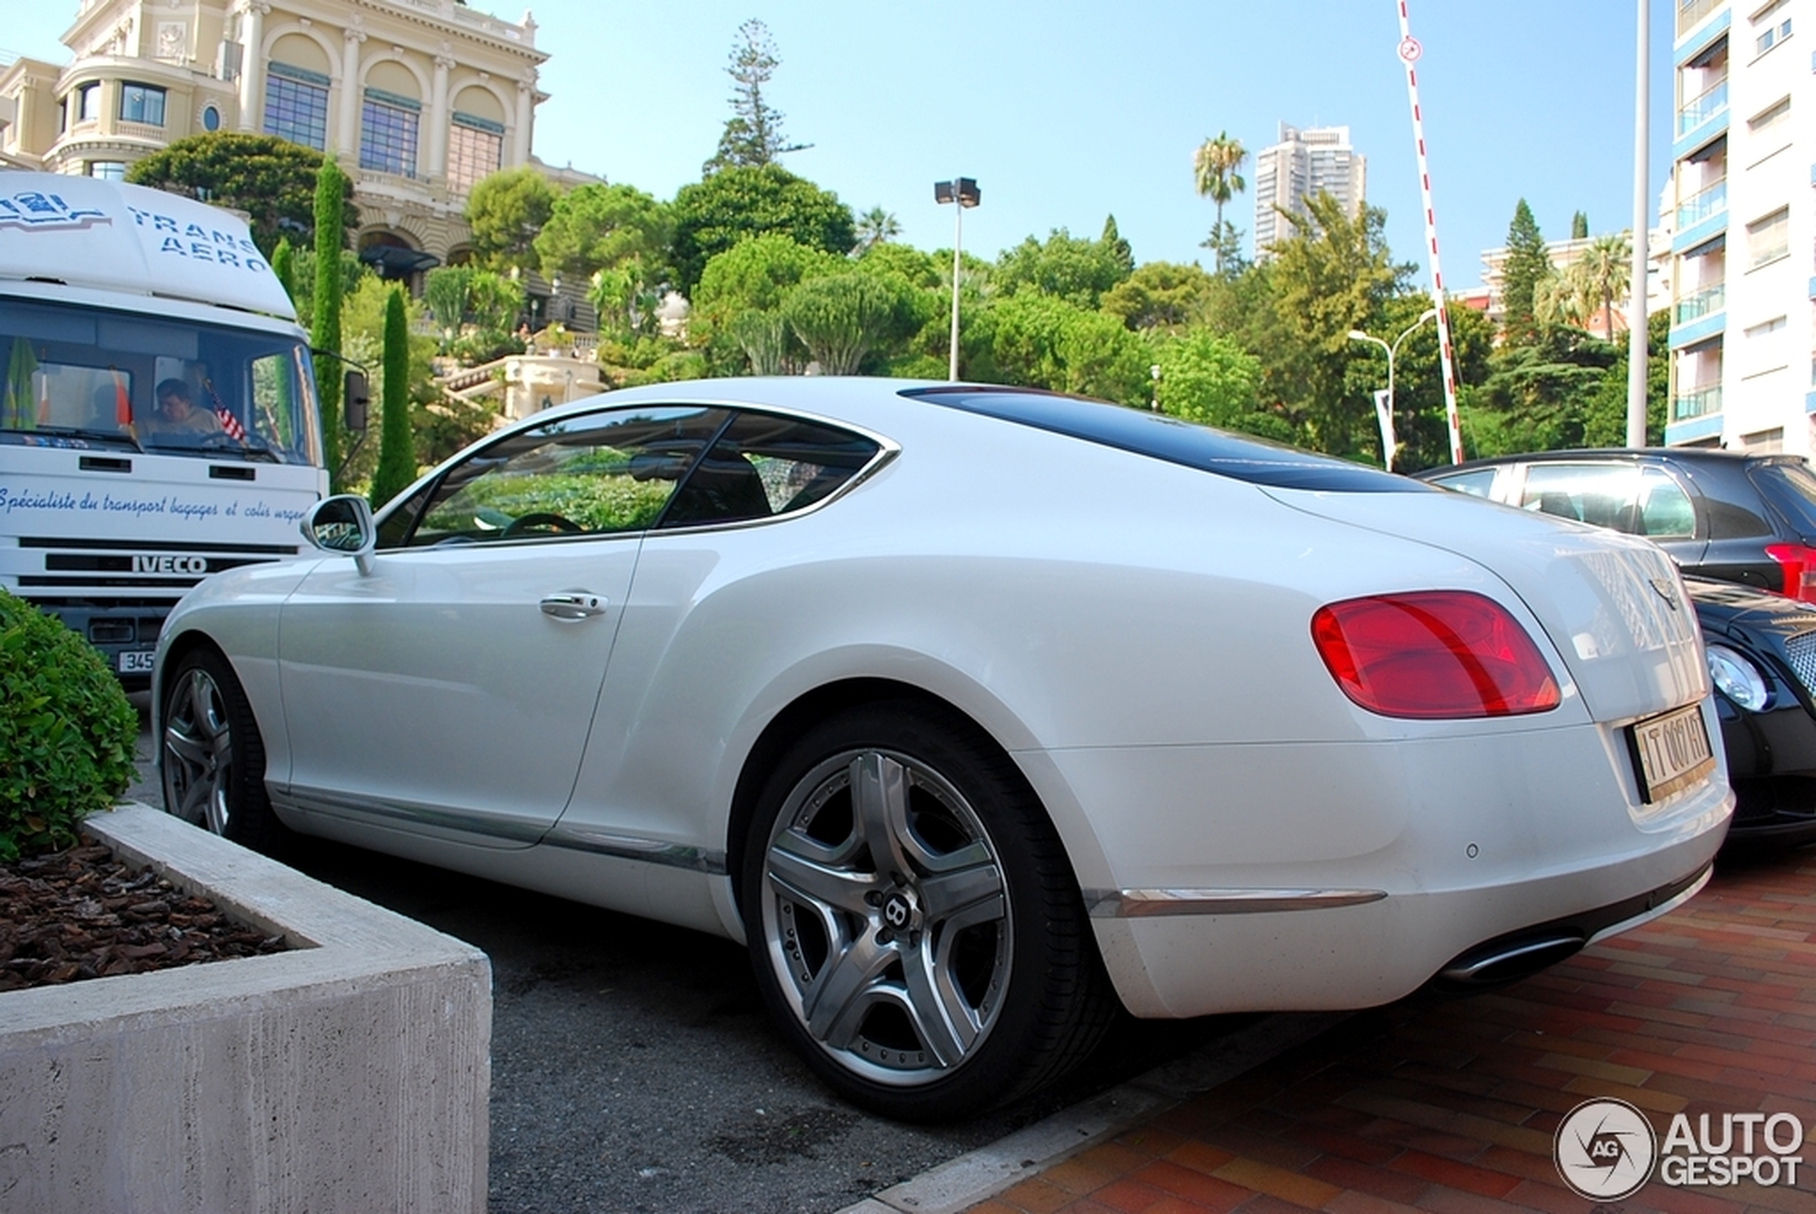
[[924, 1121], [1057, 1078], [1113, 1000], [1021, 771], [917, 702], [841, 713], [770, 775], [743, 864], [770, 1013], [846, 1100]]

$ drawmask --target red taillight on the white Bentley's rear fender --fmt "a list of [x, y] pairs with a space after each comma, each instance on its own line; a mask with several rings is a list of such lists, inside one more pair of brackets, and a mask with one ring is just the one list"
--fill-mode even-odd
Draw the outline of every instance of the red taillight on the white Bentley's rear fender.
[[1333, 602], [1311, 641], [1344, 695], [1384, 717], [1516, 717], [1560, 700], [1520, 621], [1466, 590]]

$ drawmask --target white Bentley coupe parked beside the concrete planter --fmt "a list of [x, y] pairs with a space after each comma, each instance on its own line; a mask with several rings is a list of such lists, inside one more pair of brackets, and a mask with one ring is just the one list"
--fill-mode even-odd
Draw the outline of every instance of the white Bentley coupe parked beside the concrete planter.
[[656, 385], [508, 426], [158, 646], [165, 804], [743, 940], [846, 1098], [1135, 1016], [1491, 985], [1707, 880], [1645, 541], [1022, 388]]

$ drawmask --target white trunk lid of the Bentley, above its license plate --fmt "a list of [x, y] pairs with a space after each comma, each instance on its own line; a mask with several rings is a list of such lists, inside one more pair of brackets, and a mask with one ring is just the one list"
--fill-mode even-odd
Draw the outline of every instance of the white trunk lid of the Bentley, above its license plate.
[[1696, 613], [1654, 544], [1464, 494], [1264, 490], [1306, 514], [1467, 557], [1538, 617], [1598, 720], [1707, 695]]

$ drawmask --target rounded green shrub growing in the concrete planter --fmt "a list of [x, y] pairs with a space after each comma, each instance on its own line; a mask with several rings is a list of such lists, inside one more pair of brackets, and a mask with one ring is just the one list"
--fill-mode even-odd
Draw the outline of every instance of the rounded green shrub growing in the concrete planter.
[[94, 646], [0, 590], [0, 862], [73, 846], [133, 782], [136, 739]]

